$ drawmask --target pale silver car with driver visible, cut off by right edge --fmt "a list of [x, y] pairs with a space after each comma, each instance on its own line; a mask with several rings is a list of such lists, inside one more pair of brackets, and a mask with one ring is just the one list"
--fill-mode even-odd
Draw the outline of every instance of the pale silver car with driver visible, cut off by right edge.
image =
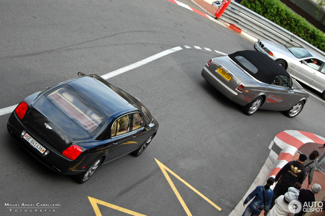
[[255, 42], [254, 48], [278, 62], [293, 78], [321, 93], [325, 100], [325, 57], [302, 46], [284, 46], [265, 39]]

